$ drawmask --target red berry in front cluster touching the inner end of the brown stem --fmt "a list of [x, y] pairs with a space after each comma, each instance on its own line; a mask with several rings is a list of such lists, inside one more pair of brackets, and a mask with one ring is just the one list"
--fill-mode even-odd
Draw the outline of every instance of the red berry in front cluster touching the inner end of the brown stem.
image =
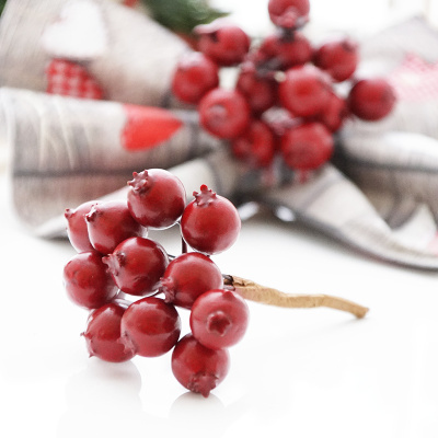
[[191, 309], [201, 293], [222, 286], [222, 274], [211, 258], [200, 253], [186, 253], [169, 264], [160, 291], [166, 302]]

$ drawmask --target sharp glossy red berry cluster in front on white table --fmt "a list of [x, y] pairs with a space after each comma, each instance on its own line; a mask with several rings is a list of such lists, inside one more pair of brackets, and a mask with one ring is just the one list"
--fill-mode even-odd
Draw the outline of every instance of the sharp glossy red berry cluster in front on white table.
[[[128, 185], [127, 201], [89, 201], [65, 215], [78, 254], [65, 266], [64, 281], [70, 299], [91, 310], [88, 350], [119, 362], [173, 349], [176, 379], [208, 396], [226, 377], [228, 347], [249, 320], [245, 300], [224, 287], [210, 258], [235, 242], [238, 211], [205, 185], [186, 204], [181, 181], [161, 169], [135, 172]], [[176, 257], [147, 238], [148, 229], [174, 224], [185, 249]], [[181, 339], [177, 307], [191, 310], [192, 333]]]

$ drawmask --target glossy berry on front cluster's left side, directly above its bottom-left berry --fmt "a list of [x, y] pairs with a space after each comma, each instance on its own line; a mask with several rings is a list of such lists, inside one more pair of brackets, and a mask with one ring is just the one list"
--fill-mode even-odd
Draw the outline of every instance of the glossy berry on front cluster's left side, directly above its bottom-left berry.
[[117, 293], [117, 287], [101, 257], [96, 251], [79, 253], [64, 267], [67, 295], [82, 308], [97, 309]]

